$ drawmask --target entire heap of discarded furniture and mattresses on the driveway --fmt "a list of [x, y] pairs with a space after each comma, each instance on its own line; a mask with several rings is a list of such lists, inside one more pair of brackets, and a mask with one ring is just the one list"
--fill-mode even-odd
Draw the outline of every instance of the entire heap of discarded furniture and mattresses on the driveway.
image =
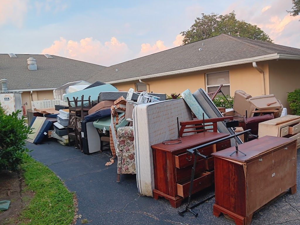
[[[106, 165], [117, 157], [117, 182], [121, 174], [136, 174], [141, 195], [163, 197], [174, 208], [188, 198], [182, 216], [197, 216], [195, 208], [215, 198], [215, 216], [250, 224], [272, 199], [287, 189], [296, 192], [300, 116], [286, 115], [274, 95], [252, 97], [241, 90], [232, 109], [221, 113], [212, 101], [219, 93], [221, 86], [215, 93], [187, 89], [182, 98], [166, 100], [164, 94], [102, 83], [64, 94], [68, 111], [59, 109], [51, 135], [60, 143], [75, 141], [88, 155], [109, 147]], [[41, 118], [32, 122], [41, 127], [38, 134], [47, 130]], [[214, 196], [190, 204], [192, 194], [211, 186]]]

